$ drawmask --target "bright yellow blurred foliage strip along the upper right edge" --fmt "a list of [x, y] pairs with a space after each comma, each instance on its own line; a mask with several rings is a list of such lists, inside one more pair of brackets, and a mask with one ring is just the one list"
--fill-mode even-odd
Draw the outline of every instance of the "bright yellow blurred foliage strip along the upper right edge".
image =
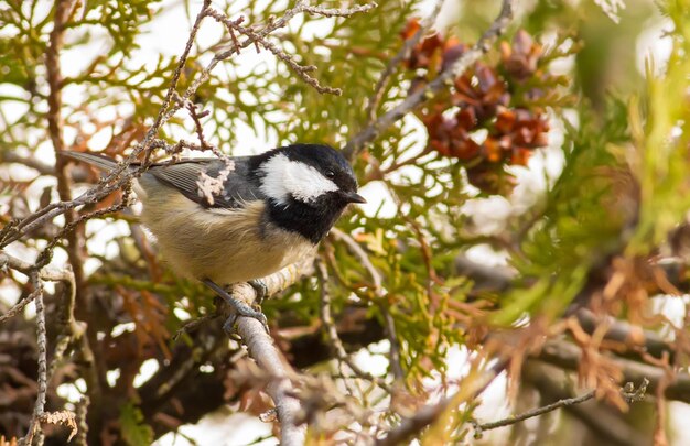
[[632, 253], [646, 253], [661, 242], [690, 208], [690, 104], [686, 96], [690, 87], [690, 6], [671, 1], [666, 13], [675, 25], [668, 67], [657, 76], [654, 59], [647, 59], [647, 112], [643, 118], [637, 108], [630, 110], [640, 150], [637, 175], [642, 188]]

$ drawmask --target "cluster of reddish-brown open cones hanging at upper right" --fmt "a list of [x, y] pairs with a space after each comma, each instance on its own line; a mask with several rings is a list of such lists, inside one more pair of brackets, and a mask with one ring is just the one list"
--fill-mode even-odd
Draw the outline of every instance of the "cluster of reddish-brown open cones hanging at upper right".
[[[401, 36], [411, 39], [419, 22], [408, 22]], [[412, 50], [405, 66], [414, 72], [411, 90], [450, 67], [467, 46], [455, 37], [435, 33]], [[496, 63], [477, 62], [418, 110], [427, 127], [429, 146], [439, 154], [462, 160], [470, 182], [487, 193], [513, 187], [505, 165], [525, 165], [531, 151], [548, 142], [543, 108], [559, 79], [543, 69], [543, 51], [526, 31], [511, 43], [502, 42]]]

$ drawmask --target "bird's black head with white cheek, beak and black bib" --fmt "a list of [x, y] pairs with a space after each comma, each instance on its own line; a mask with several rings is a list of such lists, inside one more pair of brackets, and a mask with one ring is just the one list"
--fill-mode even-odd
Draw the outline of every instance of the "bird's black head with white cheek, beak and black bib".
[[270, 218], [317, 243], [349, 203], [366, 203], [341, 152], [328, 145], [294, 144], [257, 157], [259, 188]]

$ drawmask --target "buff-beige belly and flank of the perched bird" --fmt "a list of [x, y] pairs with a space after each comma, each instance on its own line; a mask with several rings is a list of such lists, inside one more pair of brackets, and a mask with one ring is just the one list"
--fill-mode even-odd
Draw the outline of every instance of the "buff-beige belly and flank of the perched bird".
[[244, 282], [267, 276], [315, 251], [302, 236], [261, 224], [262, 202], [209, 211], [165, 188], [147, 194], [142, 202], [142, 221], [157, 237], [163, 260], [185, 278], [218, 284]]

